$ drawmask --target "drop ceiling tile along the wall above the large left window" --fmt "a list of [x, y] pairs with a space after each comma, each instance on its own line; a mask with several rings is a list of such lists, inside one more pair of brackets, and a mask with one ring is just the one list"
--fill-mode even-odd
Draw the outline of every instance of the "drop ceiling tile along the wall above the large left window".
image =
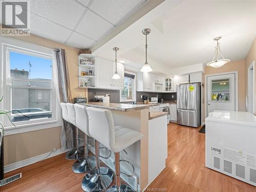
[[58, 42], [65, 42], [72, 31], [47, 19], [30, 14], [30, 33]]

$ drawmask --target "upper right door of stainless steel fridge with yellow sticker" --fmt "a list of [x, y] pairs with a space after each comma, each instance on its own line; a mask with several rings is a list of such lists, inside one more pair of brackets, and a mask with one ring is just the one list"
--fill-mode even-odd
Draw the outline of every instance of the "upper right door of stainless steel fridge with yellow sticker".
[[200, 109], [200, 84], [189, 83], [187, 84], [187, 108], [188, 110], [199, 110]]

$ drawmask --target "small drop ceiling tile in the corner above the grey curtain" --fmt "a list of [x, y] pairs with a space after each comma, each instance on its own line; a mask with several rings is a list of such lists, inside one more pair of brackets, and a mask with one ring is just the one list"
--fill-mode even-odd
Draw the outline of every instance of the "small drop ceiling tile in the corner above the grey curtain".
[[73, 34], [67, 42], [67, 45], [76, 47], [78, 49], [88, 49], [94, 46], [96, 42], [97, 41], [92, 40], [86, 36], [73, 32]]

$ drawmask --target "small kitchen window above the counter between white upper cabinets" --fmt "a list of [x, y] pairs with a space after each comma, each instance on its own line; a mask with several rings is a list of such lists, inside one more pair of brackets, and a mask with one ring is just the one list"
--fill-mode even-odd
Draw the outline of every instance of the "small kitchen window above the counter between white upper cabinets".
[[135, 74], [124, 73], [124, 87], [120, 91], [120, 102], [135, 101]]

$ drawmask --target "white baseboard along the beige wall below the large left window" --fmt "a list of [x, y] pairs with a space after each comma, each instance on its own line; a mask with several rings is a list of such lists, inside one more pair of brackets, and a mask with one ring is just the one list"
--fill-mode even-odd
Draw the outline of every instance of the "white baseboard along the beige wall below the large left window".
[[[36, 157], [31, 157], [29, 159], [25, 159], [25, 160], [22, 160], [22, 161], [18, 161], [16, 163], [12, 163], [12, 164], [9, 164], [9, 165], [6, 165], [4, 170], [5, 170], [5, 173], [7, 172], [11, 172], [12, 170], [15, 170], [15, 169], [18, 169], [18, 168], [21, 168], [21, 167], [24, 167], [24, 166], [27, 166], [27, 165], [30, 165], [30, 164], [33, 164], [33, 163], [36, 163], [38, 161], [41, 161], [42, 159], [49, 159], [51, 157], [54, 157], [56, 155], [60, 155], [62, 153], [66, 153], [68, 152], [69, 150], [65, 150], [65, 149], [58, 149], [56, 150], [55, 152], [48, 152], [48, 153], [45, 153], [45, 154], [42, 154], [42, 155], [38, 155]], [[51, 153], [51, 154], [50, 154]], [[49, 155], [50, 154], [50, 155]], [[49, 155], [49, 157], [47, 157]]]

